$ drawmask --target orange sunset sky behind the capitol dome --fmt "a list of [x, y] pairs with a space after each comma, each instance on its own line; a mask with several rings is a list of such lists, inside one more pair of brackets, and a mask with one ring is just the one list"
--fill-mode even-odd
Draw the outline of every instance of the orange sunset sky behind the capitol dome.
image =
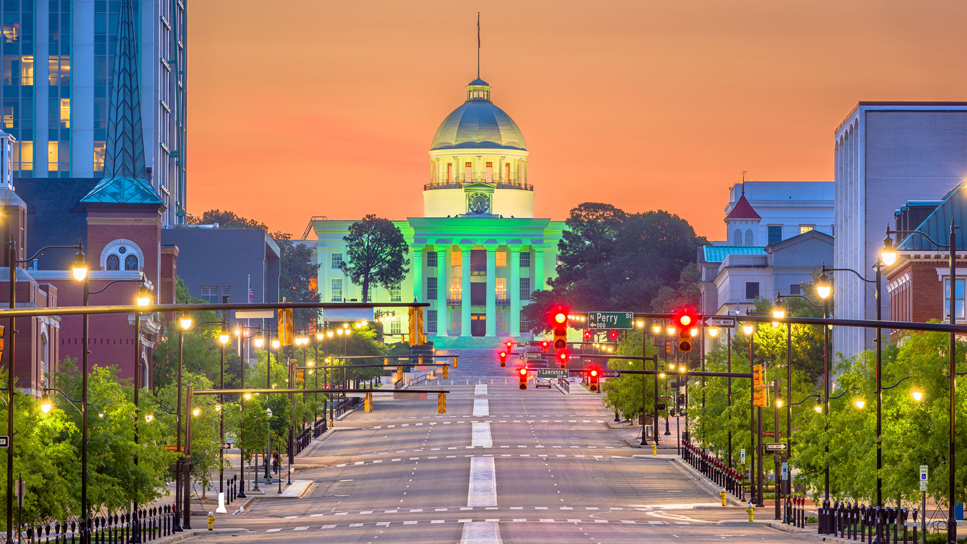
[[858, 101], [967, 100], [962, 1], [203, 0], [189, 211], [296, 237], [311, 216], [421, 216], [430, 139], [476, 76], [477, 12], [538, 217], [594, 200], [721, 239], [741, 170], [833, 179]]

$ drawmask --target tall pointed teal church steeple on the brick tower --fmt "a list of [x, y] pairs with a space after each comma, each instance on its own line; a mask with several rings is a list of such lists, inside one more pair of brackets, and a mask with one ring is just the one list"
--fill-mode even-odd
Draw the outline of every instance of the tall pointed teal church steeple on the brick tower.
[[144, 169], [141, 90], [132, 0], [121, 0], [107, 112], [104, 177], [81, 202], [163, 204]]

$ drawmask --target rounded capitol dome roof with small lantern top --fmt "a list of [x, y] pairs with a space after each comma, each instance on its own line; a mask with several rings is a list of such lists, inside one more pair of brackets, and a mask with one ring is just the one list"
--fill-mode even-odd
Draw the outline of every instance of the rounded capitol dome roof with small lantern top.
[[490, 85], [478, 77], [467, 85], [467, 101], [433, 135], [430, 150], [439, 149], [526, 150], [527, 144], [511, 116], [490, 102]]

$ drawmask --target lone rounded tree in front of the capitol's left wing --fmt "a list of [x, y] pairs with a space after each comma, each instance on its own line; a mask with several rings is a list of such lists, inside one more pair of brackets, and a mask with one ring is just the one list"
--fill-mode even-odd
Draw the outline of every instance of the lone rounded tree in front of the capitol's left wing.
[[369, 214], [350, 225], [349, 234], [342, 239], [349, 260], [340, 262], [339, 269], [352, 283], [363, 287], [364, 302], [368, 300], [370, 284], [390, 288], [410, 271], [404, 268], [410, 263], [406, 258], [409, 246], [399, 227], [388, 219]]

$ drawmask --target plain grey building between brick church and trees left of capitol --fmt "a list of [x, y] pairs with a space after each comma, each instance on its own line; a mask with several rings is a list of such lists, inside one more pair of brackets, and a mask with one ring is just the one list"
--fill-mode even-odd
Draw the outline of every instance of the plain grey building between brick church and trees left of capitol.
[[[161, 245], [178, 248], [177, 276], [207, 302], [278, 302], [278, 244], [260, 228], [179, 226], [161, 230]], [[234, 313], [233, 316], [234, 317]]]

